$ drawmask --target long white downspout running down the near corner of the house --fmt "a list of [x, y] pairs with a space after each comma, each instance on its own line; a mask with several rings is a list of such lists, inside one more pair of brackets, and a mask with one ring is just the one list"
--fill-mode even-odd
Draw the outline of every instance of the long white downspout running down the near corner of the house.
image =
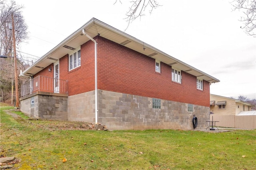
[[98, 76], [97, 76], [97, 42], [83, 29], [83, 34], [94, 42], [94, 64], [95, 64], [95, 124], [98, 123]]

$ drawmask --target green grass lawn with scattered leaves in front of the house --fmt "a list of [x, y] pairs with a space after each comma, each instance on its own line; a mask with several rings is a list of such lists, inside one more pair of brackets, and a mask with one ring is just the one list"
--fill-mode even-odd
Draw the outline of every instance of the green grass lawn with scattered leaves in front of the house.
[[256, 130], [76, 130], [79, 124], [30, 120], [19, 111], [14, 119], [8, 109], [1, 107], [1, 156], [19, 160], [10, 170], [256, 169]]

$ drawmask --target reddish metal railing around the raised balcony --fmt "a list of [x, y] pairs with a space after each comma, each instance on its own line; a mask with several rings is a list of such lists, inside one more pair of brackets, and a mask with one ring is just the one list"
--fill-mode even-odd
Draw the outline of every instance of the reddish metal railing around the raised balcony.
[[37, 76], [21, 86], [22, 97], [38, 91], [62, 94], [67, 93], [67, 80]]

